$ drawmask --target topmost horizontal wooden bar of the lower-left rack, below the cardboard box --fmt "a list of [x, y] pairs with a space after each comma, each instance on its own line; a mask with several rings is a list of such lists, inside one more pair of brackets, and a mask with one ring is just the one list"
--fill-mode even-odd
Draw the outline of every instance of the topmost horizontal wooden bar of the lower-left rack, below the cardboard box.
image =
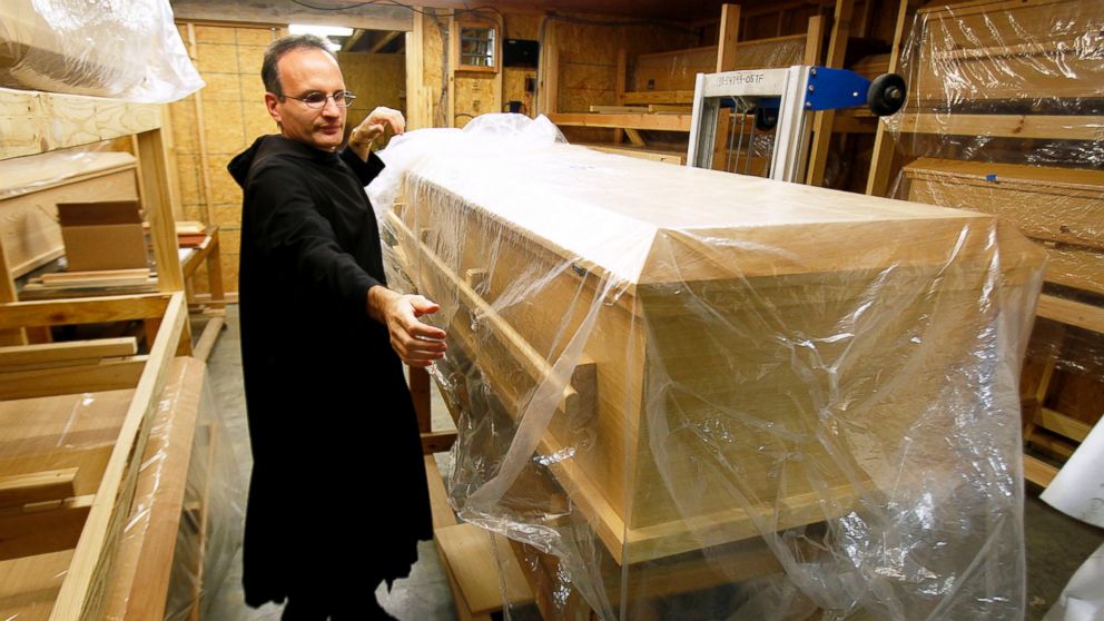
[[0, 304], [0, 329], [160, 317], [168, 303], [166, 295], [146, 294]]

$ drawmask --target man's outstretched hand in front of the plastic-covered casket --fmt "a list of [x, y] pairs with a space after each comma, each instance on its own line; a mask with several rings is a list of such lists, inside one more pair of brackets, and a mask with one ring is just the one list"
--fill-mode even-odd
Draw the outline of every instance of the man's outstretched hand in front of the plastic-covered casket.
[[445, 331], [418, 321], [441, 307], [421, 295], [404, 295], [386, 287], [368, 289], [368, 315], [387, 326], [391, 346], [410, 366], [426, 367], [444, 357]]

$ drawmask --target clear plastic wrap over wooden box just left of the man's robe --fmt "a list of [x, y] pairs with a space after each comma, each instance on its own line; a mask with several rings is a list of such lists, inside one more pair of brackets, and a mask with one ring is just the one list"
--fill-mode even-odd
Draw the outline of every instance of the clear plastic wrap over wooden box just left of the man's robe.
[[[240, 548], [246, 495], [206, 364], [176, 358], [158, 403], [121, 533], [105, 621], [135, 611], [185, 621], [210, 607]], [[225, 612], [225, 611], [224, 611]]]

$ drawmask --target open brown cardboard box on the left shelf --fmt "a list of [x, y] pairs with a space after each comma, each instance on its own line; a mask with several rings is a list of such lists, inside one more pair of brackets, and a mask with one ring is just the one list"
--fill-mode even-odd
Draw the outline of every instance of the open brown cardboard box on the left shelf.
[[69, 272], [148, 267], [137, 200], [59, 203]]

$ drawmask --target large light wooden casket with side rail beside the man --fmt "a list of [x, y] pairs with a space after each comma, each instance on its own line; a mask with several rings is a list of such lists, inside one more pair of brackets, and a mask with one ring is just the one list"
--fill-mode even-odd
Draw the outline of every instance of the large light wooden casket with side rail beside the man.
[[516, 418], [486, 461], [532, 445], [618, 563], [838, 518], [921, 463], [953, 477], [949, 428], [1018, 416], [1043, 258], [994, 217], [491, 151], [406, 169], [385, 239]]

